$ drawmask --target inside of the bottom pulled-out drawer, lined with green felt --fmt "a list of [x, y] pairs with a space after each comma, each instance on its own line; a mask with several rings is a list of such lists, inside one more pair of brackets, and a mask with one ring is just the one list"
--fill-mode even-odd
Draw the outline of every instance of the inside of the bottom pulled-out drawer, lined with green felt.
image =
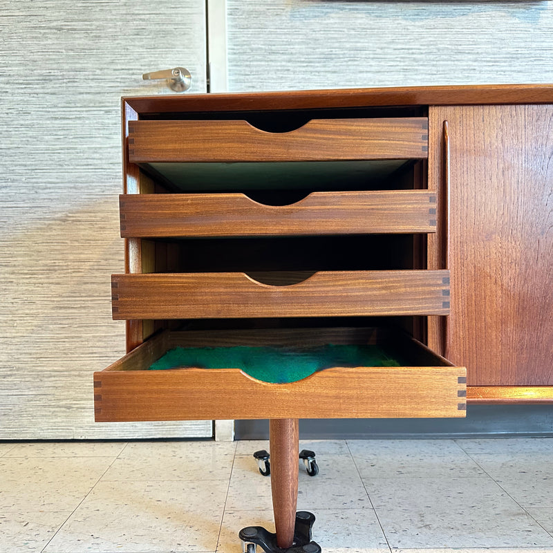
[[[250, 374], [251, 369], [275, 384], [335, 366], [452, 366], [397, 326], [174, 330], [161, 332], [152, 344], [139, 370], [238, 368]], [[303, 376], [295, 377], [293, 367], [282, 372], [281, 366], [294, 364], [303, 366]], [[126, 370], [124, 365], [112, 368]]]

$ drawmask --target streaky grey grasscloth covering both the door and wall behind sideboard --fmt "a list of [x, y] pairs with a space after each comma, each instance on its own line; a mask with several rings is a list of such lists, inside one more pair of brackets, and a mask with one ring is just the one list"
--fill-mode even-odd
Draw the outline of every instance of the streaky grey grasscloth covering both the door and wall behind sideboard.
[[[231, 91], [553, 82], [553, 6], [229, 0]], [[92, 373], [120, 357], [121, 95], [205, 91], [203, 0], [7, 1], [0, 9], [0, 440], [206, 435], [95, 424]]]

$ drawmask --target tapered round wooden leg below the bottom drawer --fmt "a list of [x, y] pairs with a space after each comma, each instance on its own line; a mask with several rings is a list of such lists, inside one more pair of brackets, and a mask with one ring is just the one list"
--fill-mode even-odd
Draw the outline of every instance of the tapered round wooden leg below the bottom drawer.
[[299, 421], [270, 420], [271, 491], [277, 545], [292, 547], [298, 500]]

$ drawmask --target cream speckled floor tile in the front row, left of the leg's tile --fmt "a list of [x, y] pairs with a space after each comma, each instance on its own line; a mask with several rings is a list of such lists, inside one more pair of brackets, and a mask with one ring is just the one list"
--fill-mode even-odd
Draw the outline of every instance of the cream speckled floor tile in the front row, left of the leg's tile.
[[100, 482], [44, 553], [214, 551], [227, 482]]

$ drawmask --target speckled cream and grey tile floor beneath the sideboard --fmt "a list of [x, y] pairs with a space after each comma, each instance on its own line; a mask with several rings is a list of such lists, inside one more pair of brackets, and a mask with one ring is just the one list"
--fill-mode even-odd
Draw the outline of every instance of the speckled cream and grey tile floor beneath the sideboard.
[[[299, 474], [326, 553], [553, 553], [553, 439], [328, 440]], [[0, 443], [0, 552], [240, 553], [266, 442]]]

